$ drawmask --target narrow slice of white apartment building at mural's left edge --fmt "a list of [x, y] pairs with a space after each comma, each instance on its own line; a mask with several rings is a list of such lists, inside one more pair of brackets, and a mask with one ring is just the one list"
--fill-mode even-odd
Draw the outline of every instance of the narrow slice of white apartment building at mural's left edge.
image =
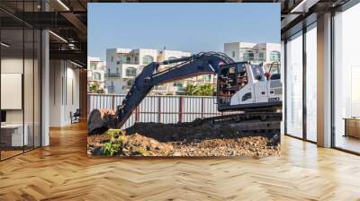
[[100, 57], [87, 57], [87, 92], [92, 92], [90, 86], [98, 85], [98, 91], [105, 89], [105, 62]]

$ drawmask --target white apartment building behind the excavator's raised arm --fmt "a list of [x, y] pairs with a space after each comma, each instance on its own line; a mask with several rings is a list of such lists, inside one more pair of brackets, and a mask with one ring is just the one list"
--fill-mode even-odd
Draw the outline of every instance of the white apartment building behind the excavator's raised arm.
[[[105, 92], [108, 93], [127, 93], [130, 90], [135, 77], [141, 73], [144, 66], [151, 62], [160, 62], [168, 59], [190, 57], [190, 52], [176, 50], [157, 50], [150, 48], [109, 48], [106, 50], [106, 70], [105, 70]], [[160, 66], [158, 71], [164, 71], [169, 67]], [[153, 94], [182, 94], [187, 84], [214, 83], [216, 79], [213, 75], [201, 75], [188, 78], [175, 83], [164, 83], [154, 87]]]

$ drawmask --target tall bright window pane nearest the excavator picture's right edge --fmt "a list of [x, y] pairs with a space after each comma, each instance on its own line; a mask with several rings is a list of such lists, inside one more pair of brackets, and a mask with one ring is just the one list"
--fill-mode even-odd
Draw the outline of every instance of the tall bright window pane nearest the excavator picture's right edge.
[[302, 31], [286, 42], [286, 134], [302, 137]]

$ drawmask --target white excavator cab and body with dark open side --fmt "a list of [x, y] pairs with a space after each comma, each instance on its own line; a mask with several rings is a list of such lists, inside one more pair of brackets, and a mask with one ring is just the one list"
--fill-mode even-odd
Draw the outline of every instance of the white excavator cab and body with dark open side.
[[280, 76], [267, 79], [262, 64], [237, 62], [220, 66], [217, 103], [220, 111], [282, 105]]

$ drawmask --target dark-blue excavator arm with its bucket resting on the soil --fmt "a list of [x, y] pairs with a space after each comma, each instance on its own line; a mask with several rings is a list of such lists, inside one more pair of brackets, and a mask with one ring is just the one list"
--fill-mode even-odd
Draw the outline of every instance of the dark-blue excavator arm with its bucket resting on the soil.
[[[88, 118], [88, 134], [101, 134], [109, 128], [120, 128], [130, 117], [132, 111], [139, 106], [148, 92], [158, 84], [169, 83], [176, 80], [193, 77], [199, 74], [218, 74], [219, 66], [230, 64], [234, 61], [222, 53], [207, 52], [199, 53], [191, 57], [153, 62], [145, 66], [142, 72], [135, 78], [130, 91], [122, 100], [121, 106], [117, 107], [115, 115], [104, 114], [98, 109], [91, 111]], [[178, 65], [158, 72], [160, 65]]]

